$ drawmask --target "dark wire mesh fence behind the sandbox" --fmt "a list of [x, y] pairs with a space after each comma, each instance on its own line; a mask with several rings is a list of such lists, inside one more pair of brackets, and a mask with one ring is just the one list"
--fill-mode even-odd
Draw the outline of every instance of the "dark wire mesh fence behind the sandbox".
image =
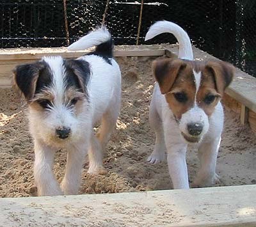
[[184, 27], [196, 47], [256, 77], [256, 1], [145, 0], [142, 8], [141, 2], [1, 0], [0, 47], [67, 46], [102, 20], [118, 45], [175, 43], [170, 34], [143, 41], [148, 27], [165, 19]]

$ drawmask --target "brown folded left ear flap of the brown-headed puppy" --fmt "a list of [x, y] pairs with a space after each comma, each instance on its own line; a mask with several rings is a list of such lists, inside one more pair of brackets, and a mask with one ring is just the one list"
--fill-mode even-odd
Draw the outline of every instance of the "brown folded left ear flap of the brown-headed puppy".
[[180, 59], [166, 58], [153, 61], [152, 68], [161, 93], [165, 94], [172, 89], [177, 75], [186, 68], [186, 63]]

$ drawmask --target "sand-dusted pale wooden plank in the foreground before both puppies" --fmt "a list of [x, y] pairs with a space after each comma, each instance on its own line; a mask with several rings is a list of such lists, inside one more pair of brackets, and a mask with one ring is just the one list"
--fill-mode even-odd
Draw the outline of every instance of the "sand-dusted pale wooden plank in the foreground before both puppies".
[[256, 185], [0, 199], [0, 226], [256, 226]]

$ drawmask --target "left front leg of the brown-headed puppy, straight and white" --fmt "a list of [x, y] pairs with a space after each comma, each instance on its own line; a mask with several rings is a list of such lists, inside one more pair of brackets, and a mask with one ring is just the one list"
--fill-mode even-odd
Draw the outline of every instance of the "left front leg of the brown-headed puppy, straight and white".
[[170, 144], [167, 146], [167, 162], [173, 189], [189, 189], [188, 168], [186, 164], [187, 146]]

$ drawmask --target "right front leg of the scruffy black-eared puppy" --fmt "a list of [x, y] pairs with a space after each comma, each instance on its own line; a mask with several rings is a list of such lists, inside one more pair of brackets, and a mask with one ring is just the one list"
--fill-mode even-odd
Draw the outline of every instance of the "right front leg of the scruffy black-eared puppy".
[[81, 171], [87, 153], [87, 143], [68, 147], [67, 167], [61, 182], [64, 194], [77, 194], [81, 184]]

